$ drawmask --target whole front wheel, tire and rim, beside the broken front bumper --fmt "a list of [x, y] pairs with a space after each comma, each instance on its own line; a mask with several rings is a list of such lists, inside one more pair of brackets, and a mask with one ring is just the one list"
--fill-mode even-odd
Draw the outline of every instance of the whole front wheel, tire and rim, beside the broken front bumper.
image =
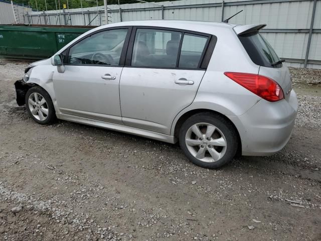
[[50, 95], [43, 88], [36, 86], [26, 93], [26, 108], [35, 122], [48, 125], [56, 119], [55, 108]]

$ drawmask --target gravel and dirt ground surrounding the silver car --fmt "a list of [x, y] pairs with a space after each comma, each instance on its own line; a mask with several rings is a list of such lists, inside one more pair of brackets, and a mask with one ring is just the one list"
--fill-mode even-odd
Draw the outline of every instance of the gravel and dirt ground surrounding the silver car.
[[282, 151], [207, 170], [178, 145], [36, 124], [13, 101], [26, 65], [0, 60], [0, 240], [321, 240], [321, 71], [290, 69]]

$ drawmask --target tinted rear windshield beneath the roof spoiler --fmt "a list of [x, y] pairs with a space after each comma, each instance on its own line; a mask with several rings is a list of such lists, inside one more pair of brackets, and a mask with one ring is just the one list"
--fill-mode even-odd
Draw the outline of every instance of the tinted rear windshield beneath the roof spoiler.
[[280, 61], [280, 58], [259, 32], [240, 35], [239, 39], [255, 64], [264, 67], [282, 66], [281, 63], [275, 64]]

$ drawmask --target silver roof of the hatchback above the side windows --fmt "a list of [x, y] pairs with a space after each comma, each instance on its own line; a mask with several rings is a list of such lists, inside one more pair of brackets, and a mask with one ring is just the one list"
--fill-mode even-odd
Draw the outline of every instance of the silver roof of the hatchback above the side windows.
[[202, 21], [183, 21], [183, 20], [147, 20], [147, 21], [128, 21], [114, 24], [103, 25], [99, 28], [111, 28], [121, 26], [150, 26], [189, 30], [201, 33], [213, 33], [214, 29], [229, 28], [232, 29], [236, 25], [228, 23], [202, 22]]

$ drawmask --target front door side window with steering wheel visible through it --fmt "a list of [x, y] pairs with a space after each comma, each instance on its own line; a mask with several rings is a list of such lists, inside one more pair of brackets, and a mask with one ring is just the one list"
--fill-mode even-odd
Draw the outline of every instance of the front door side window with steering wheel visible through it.
[[69, 50], [67, 64], [118, 65], [128, 29], [93, 34]]

